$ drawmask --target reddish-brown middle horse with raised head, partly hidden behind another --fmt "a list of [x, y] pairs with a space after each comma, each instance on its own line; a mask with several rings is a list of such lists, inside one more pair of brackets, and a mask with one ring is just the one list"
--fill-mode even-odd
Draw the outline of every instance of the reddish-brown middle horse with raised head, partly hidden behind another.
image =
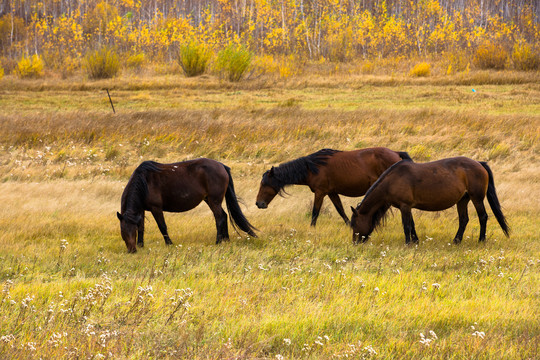
[[410, 159], [406, 152], [396, 152], [383, 147], [363, 150], [339, 151], [322, 149], [308, 156], [272, 167], [263, 174], [256, 205], [266, 209], [287, 185], [307, 185], [315, 194], [311, 226], [317, 223], [323, 199], [330, 198], [346, 224], [339, 194], [362, 196], [390, 165], [401, 159]]

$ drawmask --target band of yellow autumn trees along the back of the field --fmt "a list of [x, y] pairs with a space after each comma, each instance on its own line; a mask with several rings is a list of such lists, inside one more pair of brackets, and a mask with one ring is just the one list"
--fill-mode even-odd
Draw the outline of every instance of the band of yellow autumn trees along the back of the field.
[[539, 19], [538, 0], [0, 0], [0, 55], [65, 68], [107, 45], [171, 61], [194, 40], [343, 62], [473, 54], [486, 42], [538, 51]]

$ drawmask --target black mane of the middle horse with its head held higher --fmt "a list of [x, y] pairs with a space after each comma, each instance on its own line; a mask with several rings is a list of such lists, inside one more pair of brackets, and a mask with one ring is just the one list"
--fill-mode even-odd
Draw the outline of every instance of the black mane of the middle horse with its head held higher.
[[274, 179], [279, 189], [289, 184], [298, 184], [306, 179], [309, 172], [317, 175], [319, 167], [326, 165], [328, 158], [340, 150], [321, 149], [313, 154], [291, 160], [274, 168]]

